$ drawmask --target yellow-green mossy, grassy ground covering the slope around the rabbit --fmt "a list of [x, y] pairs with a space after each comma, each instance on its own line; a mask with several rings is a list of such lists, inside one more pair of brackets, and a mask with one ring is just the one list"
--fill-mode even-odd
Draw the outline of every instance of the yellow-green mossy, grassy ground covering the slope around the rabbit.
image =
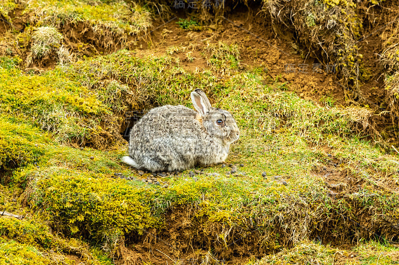
[[[29, 2], [31, 19], [46, 12], [52, 19], [34, 25], [32, 36], [39, 26], [65, 34], [60, 19], [94, 23], [104, 5], [129, 6], [59, 4], [51, 8], [69, 10], [76, 21]], [[130, 7], [122, 15], [150, 16]], [[126, 33], [112, 8], [101, 19], [114, 22], [96, 23]], [[121, 21], [141, 21], [129, 19]], [[307, 21], [313, 25], [311, 15]], [[56, 40], [49, 47], [62, 45]], [[24, 216], [0, 218], [6, 263], [398, 263], [399, 159], [375, 144], [383, 139], [373, 110], [301, 98], [267, 68], [244, 65], [239, 47], [208, 41], [153, 54], [117, 49], [45, 71], [25, 69], [12, 52], [0, 57], [0, 211]], [[131, 113], [192, 107], [194, 88], [235, 117], [241, 135], [226, 163], [243, 166], [235, 174], [214, 165], [195, 177], [185, 171], [158, 177], [160, 185], [143, 182], [150, 173], [120, 162]]]

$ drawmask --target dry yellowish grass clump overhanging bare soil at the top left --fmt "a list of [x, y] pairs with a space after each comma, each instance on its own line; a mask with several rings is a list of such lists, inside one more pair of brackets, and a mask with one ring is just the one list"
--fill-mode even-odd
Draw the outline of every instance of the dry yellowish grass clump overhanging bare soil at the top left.
[[129, 36], [145, 34], [152, 24], [147, 9], [123, 0], [96, 4], [72, 0], [29, 0], [24, 13], [31, 23], [61, 29], [70, 39], [81, 34], [83, 26], [85, 31], [95, 35], [89, 37], [90, 40], [106, 49], [124, 46]]

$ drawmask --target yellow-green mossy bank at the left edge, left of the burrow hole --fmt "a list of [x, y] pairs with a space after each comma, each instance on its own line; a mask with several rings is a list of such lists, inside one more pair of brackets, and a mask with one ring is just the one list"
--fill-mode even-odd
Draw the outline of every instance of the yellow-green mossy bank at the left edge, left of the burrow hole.
[[58, 142], [80, 145], [100, 134], [101, 117], [112, 113], [97, 95], [61, 69], [41, 76], [0, 69], [0, 102], [2, 111], [53, 132]]

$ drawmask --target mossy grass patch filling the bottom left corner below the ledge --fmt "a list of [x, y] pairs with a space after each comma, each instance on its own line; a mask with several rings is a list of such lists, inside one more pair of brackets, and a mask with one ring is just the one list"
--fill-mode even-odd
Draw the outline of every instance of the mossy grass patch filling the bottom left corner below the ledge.
[[101, 250], [81, 240], [54, 236], [39, 220], [37, 215], [34, 220], [0, 219], [1, 265], [77, 264], [72, 256], [83, 264], [112, 264]]

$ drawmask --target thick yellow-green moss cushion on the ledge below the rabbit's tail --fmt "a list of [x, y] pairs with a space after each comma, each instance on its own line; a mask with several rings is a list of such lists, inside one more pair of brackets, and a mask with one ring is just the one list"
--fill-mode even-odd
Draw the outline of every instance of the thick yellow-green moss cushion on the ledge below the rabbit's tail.
[[160, 225], [148, 204], [155, 190], [54, 167], [37, 172], [33, 179], [32, 208], [45, 209], [48, 220], [59, 222], [57, 229], [67, 234], [92, 235], [100, 241], [109, 233], [142, 234]]

